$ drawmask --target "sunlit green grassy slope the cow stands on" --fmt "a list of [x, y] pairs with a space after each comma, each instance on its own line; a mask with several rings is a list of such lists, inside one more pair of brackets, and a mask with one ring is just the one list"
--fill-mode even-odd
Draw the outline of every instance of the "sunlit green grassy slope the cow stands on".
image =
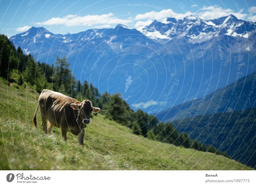
[[[7, 94], [8, 90], [8, 94]], [[85, 146], [68, 133], [62, 141], [60, 130], [45, 135], [31, 120], [39, 94], [24, 93], [15, 84], [0, 79], [0, 166], [13, 170], [251, 170], [234, 160], [212, 153], [150, 141], [98, 114], [85, 128]], [[9, 103], [7, 102], [7, 98]], [[15, 99], [18, 102], [15, 102]], [[18, 103], [18, 110], [15, 104]], [[18, 118], [19, 113], [20, 118]], [[37, 121], [41, 123], [40, 113]]]

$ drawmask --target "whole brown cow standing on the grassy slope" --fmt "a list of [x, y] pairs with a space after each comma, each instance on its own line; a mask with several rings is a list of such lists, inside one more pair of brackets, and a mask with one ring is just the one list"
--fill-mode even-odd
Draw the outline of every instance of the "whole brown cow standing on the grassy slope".
[[[67, 132], [78, 136], [78, 143], [84, 146], [84, 128], [90, 123], [92, 112], [100, 112], [90, 100], [82, 102], [60, 92], [44, 89], [38, 99], [36, 113], [40, 106], [42, 128], [45, 134], [51, 134], [52, 127], [61, 128], [62, 139], [67, 140]], [[33, 123], [36, 127], [36, 113]]]

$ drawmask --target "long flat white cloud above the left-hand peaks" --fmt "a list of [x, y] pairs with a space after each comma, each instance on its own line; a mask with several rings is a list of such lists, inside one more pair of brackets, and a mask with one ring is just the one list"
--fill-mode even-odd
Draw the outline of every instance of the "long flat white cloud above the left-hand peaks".
[[114, 17], [113, 13], [102, 14], [102, 15], [86, 15], [86, 16], [77, 16], [77, 15], [67, 15], [65, 17], [51, 18], [44, 22], [38, 22], [37, 25], [66, 25], [66, 26], [92, 26], [94, 24], [128, 24], [132, 20], [119, 19]]

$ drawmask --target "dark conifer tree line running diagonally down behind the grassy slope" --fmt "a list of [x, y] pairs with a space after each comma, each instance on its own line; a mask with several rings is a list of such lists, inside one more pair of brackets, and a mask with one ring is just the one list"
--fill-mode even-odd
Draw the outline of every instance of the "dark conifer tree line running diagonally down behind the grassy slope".
[[205, 146], [196, 139], [192, 140], [185, 132], [178, 132], [171, 123], [159, 122], [155, 116], [140, 109], [133, 111], [121, 94], [110, 95], [105, 92], [101, 95], [91, 83], [76, 80], [69, 69], [67, 57], [57, 57], [52, 65], [39, 63], [30, 54], [24, 54], [20, 47], [16, 50], [5, 35], [0, 35], [0, 43], [4, 43], [0, 50], [0, 76], [8, 79], [9, 83], [14, 81], [11, 74], [15, 72], [18, 84], [25, 89], [34, 86], [38, 93], [43, 89], [51, 89], [80, 101], [89, 99], [106, 118], [131, 128], [136, 135], [157, 141], [166, 139], [165, 143], [176, 146], [226, 155], [212, 145]]

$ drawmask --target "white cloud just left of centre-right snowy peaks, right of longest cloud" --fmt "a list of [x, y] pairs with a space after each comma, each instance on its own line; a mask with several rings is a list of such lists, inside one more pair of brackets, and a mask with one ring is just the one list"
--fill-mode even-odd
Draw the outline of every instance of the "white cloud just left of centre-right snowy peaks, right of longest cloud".
[[170, 17], [173, 17], [176, 19], [182, 19], [191, 14], [192, 12], [189, 12], [189, 11], [186, 13], [176, 13], [176, 12], [173, 12], [172, 9], [167, 9], [167, 10], [162, 10], [160, 12], [151, 11], [144, 14], [138, 14], [135, 16], [134, 20], [141, 20], [141, 19], [160, 20], [160, 19], [170, 18]]

